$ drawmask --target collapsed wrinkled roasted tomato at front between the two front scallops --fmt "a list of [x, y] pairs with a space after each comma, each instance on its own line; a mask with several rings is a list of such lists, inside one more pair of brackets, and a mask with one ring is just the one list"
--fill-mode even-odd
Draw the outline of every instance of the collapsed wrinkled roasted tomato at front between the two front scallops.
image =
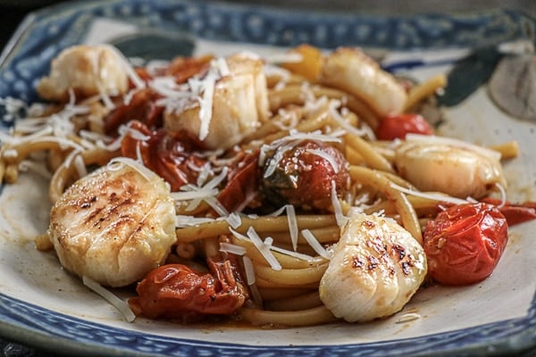
[[137, 315], [185, 322], [206, 315], [229, 315], [248, 297], [236, 262], [221, 256], [207, 259], [211, 273], [182, 264], [167, 264], [152, 270], [129, 300]]

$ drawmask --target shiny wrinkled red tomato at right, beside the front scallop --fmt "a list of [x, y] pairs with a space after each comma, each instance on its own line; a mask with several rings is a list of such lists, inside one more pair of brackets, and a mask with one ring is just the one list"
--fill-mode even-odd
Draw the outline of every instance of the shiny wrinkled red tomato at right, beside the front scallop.
[[444, 285], [477, 283], [495, 269], [507, 240], [507, 219], [496, 206], [466, 203], [449, 207], [424, 230], [429, 274]]

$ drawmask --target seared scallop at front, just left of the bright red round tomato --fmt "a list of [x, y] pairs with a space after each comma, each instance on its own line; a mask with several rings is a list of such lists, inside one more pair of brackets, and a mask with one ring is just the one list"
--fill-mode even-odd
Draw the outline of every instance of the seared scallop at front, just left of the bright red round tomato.
[[322, 303], [348, 322], [400, 311], [423, 283], [423, 247], [394, 220], [358, 214], [348, 220], [320, 281]]

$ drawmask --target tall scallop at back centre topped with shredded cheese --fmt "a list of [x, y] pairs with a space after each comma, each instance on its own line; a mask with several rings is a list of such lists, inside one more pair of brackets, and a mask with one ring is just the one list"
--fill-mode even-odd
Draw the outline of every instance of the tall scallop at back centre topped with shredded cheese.
[[193, 100], [163, 114], [166, 129], [186, 129], [210, 149], [238, 144], [269, 114], [263, 62], [247, 54], [221, 60], [211, 63], [205, 77], [190, 79]]

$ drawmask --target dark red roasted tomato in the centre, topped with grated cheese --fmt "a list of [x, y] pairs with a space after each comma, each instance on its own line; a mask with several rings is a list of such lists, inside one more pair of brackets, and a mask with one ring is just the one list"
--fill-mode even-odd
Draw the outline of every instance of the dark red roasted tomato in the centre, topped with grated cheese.
[[329, 208], [332, 182], [338, 195], [348, 191], [348, 162], [338, 149], [321, 141], [281, 145], [264, 162], [263, 189], [274, 203]]

